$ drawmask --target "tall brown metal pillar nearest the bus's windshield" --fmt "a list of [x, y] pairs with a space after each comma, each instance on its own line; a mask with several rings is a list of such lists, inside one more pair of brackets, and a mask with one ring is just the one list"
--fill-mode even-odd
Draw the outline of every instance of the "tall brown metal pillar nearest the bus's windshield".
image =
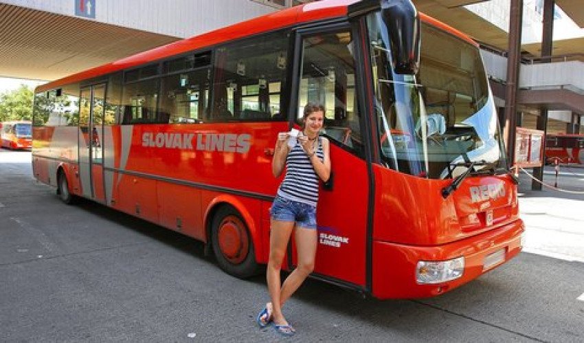
[[505, 131], [507, 155], [515, 164], [515, 127], [517, 126], [517, 87], [521, 54], [521, 22], [523, 0], [511, 0], [509, 18], [509, 47], [507, 56], [507, 87], [505, 89]]

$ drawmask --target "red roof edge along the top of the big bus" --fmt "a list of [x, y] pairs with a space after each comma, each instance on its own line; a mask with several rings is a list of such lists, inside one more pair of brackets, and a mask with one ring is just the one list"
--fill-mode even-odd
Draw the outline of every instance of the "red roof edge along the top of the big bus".
[[[169, 43], [167, 45], [162, 45], [160, 47], [155, 47], [154, 49], [150, 49], [145, 52], [139, 52], [138, 54], [122, 58], [121, 60], [117, 60], [112, 63], [94, 67], [92, 69], [87, 69], [85, 71], [80, 71], [79, 73], [72, 74], [70, 76], [65, 76], [65, 78], [60, 78], [58, 80], [54, 80], [36, 87], [35, 93], [40, 91], [49, 91], [69, 83], [79, 82], [81, 80], [87, 80], [89, 78], [110, 74], [114, 71], [137, 67], [139, 65], [148, 64], [155, 60], [183, 54], [192, 50], [201, 49], [203, 47], [211, 47], [219, 43], [231, 41], [237, 38], [243, 38], [245, 36], [251, 36], [262, 32], [269, 32], [271, 30], [278, 30], [280, 28], [289, 27], [298, 23], [306, 23], [309, 21], [333, 19], [346, 16], [348, 5], [356, 3], [357, 1], [359, 0], [316, 1], [313, 3], [297, 5], [293, 8], [280, 10], [278, 12], [273, 12], [264, 16], [258, 16], [257, 18], [250, 19], [248, 21], [236, 23], [234, 25], [207, 32], [199, 36], [186, 38], [181, 41]], [[433, 19], [421, 12], [420, 19], [425, 23], [429, 23], [430, 25], [450, 32], [451, 34], [462, 38], [464, 41], [472, 43], [473, 45], [477, 45], [466, 34], [463, 34], [453, 27], [437, 21], [436, 19]]]

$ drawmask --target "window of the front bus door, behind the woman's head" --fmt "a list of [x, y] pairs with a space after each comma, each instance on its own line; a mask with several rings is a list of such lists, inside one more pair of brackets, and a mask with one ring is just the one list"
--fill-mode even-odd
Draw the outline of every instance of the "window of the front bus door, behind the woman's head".
[[355, 93], [355, 58], [349, 31], [304, 38], [297, 121], [308, 102], [325, 108], [324, 135], [357, 155], [363, 155]]

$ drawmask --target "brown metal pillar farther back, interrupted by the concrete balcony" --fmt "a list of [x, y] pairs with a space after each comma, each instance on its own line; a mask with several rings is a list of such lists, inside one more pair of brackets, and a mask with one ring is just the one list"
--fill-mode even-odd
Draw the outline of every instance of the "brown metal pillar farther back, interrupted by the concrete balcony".
[[[552, 61], [552, 42], [554, 35], [554, 0], [544, 0], [543, 2], [543, 36], [541, 38], [541, 63]], [[537, 129], [543, 130], [543, 151], [546, 151], [546, 134], [548, 133], [548, 107], [543, 105], [537, 118]], [[545, 164], [545, 153], [544, 153]], [[543, 181], [543, 166], [533, 168], [533, 177]], [[541, 190], [541, 184], [535, 180], [531, 182], [532, 190]]]

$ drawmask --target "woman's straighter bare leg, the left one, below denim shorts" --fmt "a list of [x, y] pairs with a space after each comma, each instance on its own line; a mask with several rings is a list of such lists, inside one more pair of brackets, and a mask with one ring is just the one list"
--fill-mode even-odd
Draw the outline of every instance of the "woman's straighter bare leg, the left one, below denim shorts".
[[282, 300], [280, 295], [280, 269], [286, 253], [286, 247], [290, 239], [290, 234], [294, 229], [293, 221], [276, 221], [271, 220], [270, 231], [270, 255], [266, 272], [268, 291], [271, 298], [271, 313], [276, 324], [285, 324], [286, 320], [282, 315]]

